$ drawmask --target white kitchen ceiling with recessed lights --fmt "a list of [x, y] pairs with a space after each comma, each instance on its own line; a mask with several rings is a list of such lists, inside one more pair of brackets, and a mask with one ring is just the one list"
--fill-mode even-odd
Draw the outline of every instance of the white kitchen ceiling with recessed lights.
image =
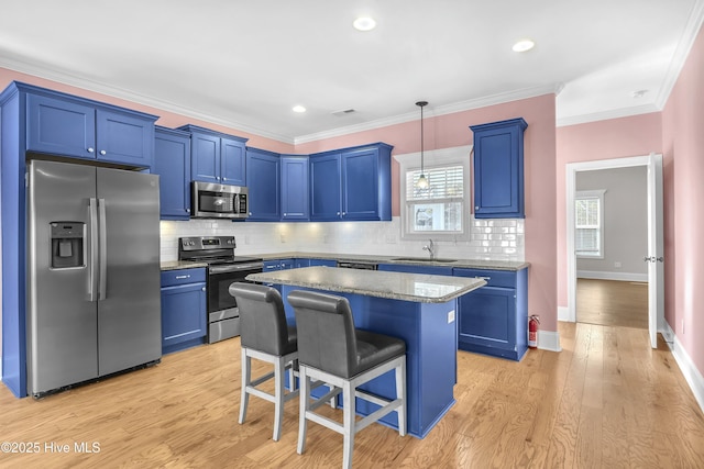
[[[418, 119], [418, 100], [429, 116], [559, 92], [565, 125], [661, 110], [703, 11], [704, 0], [0, 0], [0, 67], [288, 143]], [[358, 15], [377, 27], [355, 31]], [[536, 47], [514, 53], [522, 37]]]

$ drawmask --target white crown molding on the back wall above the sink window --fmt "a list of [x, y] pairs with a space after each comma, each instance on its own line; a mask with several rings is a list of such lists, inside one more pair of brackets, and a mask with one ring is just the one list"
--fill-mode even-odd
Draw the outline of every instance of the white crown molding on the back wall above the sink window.
[[[444, 114], [453, 114], [455, 112], [470, 111], [472, 109], [486, 108], [488, 105], [503, 104], [510, 101], [518, 101], [521, 99], [536, 98], [543, 94], [556, 94], [564, 88], [563, 83], [552, 83], [542, 87], [525, 88], [521, 90], [508, 91], [505, 93], [492, 94], [477, 99], [471, 99], [466, 101], [460, 101], [451, 104], [439, 105], [426, 111], [425, 115], [433, 118]], [[315, 134], [302, 135], [294, 138], [295, 145], [300, 145], [309, 142], [317, 142], [324, 138], [339, 137], [342, 135], [354, 134], [358, 132], [372, 131], [380, 127], [386, 127], [395, 124], [403, 124], [405, 122], [417, 121], [417, 112], [407, 112], [405, 114], [394, 115], [391, 118], [377, 119], [375, 121], [364, 122], [361, 124], [348, 125], [344, 127], [332, 129], [324, 132], [318, 132]]]

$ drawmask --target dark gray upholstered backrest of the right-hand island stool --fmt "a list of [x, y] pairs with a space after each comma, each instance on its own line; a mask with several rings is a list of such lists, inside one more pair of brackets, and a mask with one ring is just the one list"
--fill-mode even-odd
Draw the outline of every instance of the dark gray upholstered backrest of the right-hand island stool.
[[296, 314], [298, 361], [336, 376], [353, 376], [356, 336], [348, 299], [295, 290], [288, 303]]

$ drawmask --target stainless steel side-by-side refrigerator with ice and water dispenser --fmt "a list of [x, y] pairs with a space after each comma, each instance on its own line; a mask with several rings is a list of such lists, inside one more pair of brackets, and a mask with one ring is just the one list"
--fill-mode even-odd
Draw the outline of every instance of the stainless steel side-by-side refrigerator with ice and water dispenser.
[[158, 177], [29, 165], [28, 390], [162, 356]]

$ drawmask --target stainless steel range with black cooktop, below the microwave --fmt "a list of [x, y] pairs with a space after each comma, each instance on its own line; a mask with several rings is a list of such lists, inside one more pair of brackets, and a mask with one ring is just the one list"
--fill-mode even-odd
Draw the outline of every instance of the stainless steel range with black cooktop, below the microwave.
[[208, 264], [208, 343], [240, 335], [240, 311], [230, 283], [248, 281], [264, 268], [262, 259], [234, 255], [234, 236], [195, 236], [178, 239], [178, 259]]

